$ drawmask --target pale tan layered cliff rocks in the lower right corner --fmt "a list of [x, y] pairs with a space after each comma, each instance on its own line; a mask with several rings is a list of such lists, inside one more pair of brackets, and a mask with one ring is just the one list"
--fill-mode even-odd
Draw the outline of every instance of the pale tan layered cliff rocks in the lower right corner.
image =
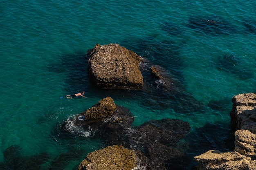
[[231, 126], [235, 131], [233, 152], [210, 150], [194, 157], [198, 170], [256, 170], [256, 94], [232, 98]]

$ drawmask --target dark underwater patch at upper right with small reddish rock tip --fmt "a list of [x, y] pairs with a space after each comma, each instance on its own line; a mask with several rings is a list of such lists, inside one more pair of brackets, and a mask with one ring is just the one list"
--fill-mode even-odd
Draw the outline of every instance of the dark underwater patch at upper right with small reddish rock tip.
[[219, 16], [193, 16], [189, 18], [188, 26], [208, 35], [236, 34], [234, 26]]

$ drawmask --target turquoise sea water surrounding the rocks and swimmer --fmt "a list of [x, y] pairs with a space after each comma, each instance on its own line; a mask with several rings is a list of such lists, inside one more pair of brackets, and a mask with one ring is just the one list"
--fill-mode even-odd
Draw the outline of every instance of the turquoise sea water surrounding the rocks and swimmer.
[[[256, 91], [256, 2], [0, 3], [0, 162], [6, 161], [5, 150], [17, 145], [24, 157], [47, 152], [49, 159], [40, 169], [77, 167], [104, 142], [87, 137], [60, 139], [56, 129], [107, 96], [130, 109], [134, 126], [151, 119], [188, 121], [191, 134], [184, 143], [202, 146], [189, 152], [191, 159], [209, 149], [232, 149], [232, 144], [225, 142], [231, 133], [231, 98]], [[210, 28], [195, 24], [198, 20], [204, 20]], [[227, 27], [215, 29], [213, 20]], [[186, 92], [207, 107], [206, 111], [178, 113], [171, 107], [162, 108], [166, 101], [141, 105], [152, 97], [146, 92], [118, 95], [119, 91], [99, 91], [88, 77], [85, 53], [95, 44], [109, 43], [118, 43], [176, 75]], [[60, 99], [80, 91], [88, 98]], [[191, 161], [184, 169], [195, 164]]]

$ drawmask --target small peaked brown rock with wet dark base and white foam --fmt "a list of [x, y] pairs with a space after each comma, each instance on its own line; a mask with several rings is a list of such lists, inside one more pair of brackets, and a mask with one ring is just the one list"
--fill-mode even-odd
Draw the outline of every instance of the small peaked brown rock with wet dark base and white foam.
[[86, 133], [86, 137], [90, 137], [99, 132], [102, 134], [128, 128], [133, 121], [134, 118], [128, 109], [116, 106], [111, 97], [106, 97], [85, 112], [67, 119], [61, 131], [75, 136], [83, 136]]

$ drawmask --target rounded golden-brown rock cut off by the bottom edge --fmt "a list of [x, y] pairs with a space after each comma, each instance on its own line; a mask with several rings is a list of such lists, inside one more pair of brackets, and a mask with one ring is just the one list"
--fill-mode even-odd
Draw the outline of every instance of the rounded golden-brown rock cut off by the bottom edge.
[[135, 151], [114, 145], [89, 153], [78, 170], [131, 170], [137, 161]]

